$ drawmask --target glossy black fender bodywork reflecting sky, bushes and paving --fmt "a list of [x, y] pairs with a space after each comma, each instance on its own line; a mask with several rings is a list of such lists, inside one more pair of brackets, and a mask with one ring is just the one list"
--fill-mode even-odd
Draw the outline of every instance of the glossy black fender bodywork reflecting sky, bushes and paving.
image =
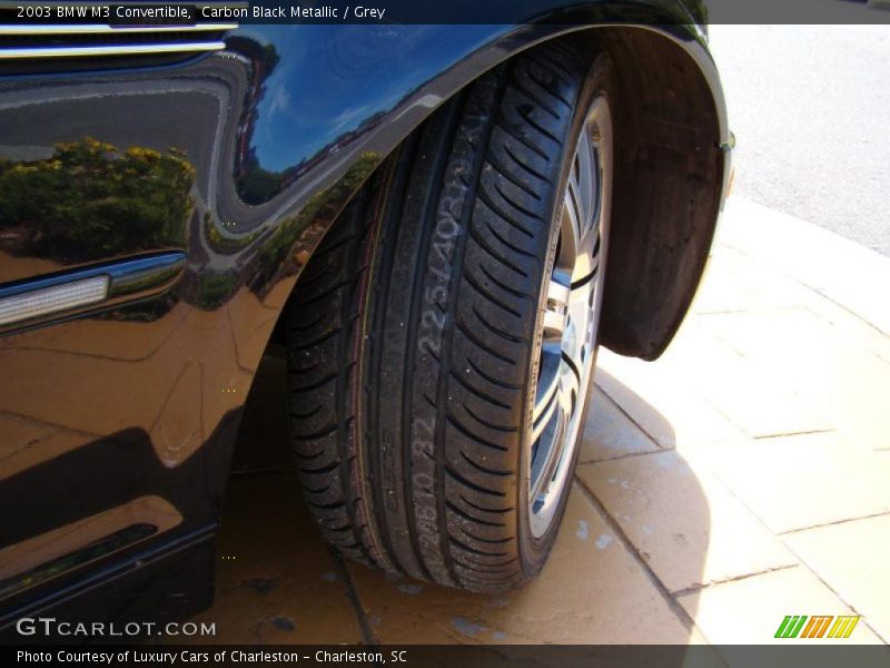
[[[205, 544], [258, 363], [344, 204], [448, 96], [577, 29], [246, 26], [226, 51], [176, 67], [0, 77], [0, 296], [98, 272], [130, 281], [98, 307], [0, 333], [0, 580], [31, 572], [16, 559], [56, 529], [98, 518], [120, 530], [103, 513], [134, 500], [181, 514], [88, 566], [18, 582], [0, 627]], [[659, 31], [700, 68], [725, 140], [701, 33]], [[175, 271], [147, 285], [123, 269], [152, 258]], [[53, 558], [77, 547], [50, 543]], [[181, 590], [165, 582], [169, 608]]]

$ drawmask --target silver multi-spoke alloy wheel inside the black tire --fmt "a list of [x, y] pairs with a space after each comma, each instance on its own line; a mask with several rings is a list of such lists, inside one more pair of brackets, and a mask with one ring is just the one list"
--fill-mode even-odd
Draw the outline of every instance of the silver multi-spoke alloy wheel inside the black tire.
[[612, 126], [606, 100], [591, 105], [563, 190], [553, 269], [545, 279], [543, 336], [530, 421], [532, 533], [546, 533], [571, 478], [594, 369], [605, 247]]

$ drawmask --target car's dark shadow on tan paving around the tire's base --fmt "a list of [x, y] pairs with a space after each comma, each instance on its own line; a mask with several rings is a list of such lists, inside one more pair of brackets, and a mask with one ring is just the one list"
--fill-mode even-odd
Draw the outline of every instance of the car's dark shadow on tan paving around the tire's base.
[[[267, 356], [247, 402], [218, 541], [216, 603], [200, 616], [216, 623], [217, 636], [207, 641], [702, 640], [693, 631], [694, 610], [674, 595], [702, 581], [706, 499], [682, 458], [641, 441], [640, 429], [601, 390], [589, 413], [589, 423], [599, 426], [585, 430], [547, 566], [518, 591], [479, 595], [388, 577], [344, 562], [326, 547], [286, 448], [285, 372], [284, 358]], [[664, 420], [654, 407], [650, 418]], [[676, 493], [682, 517], [674, 512]]]

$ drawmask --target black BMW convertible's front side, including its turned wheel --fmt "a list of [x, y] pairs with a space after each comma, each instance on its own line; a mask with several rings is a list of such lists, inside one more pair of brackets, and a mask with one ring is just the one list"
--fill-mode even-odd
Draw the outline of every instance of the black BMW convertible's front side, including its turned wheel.
[[209, 605], [273, 344], [343, 554], [535, 577], [597, 346], [668, 346], [731, 143], [694, 3], [563, 3], [0, 26], [0, 628]]

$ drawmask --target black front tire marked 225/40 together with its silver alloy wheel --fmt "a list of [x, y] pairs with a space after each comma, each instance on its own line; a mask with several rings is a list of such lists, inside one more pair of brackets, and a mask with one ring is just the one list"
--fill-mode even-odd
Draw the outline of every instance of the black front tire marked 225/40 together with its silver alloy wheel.
[[[474, 591], [543, 567], [595, 363], [612, 89], [580, 39], [490, 71], [378, 170], [300, 276], [294, 451], [343, 554]], [[572, 244], [590, 247], [581, 269]]]

